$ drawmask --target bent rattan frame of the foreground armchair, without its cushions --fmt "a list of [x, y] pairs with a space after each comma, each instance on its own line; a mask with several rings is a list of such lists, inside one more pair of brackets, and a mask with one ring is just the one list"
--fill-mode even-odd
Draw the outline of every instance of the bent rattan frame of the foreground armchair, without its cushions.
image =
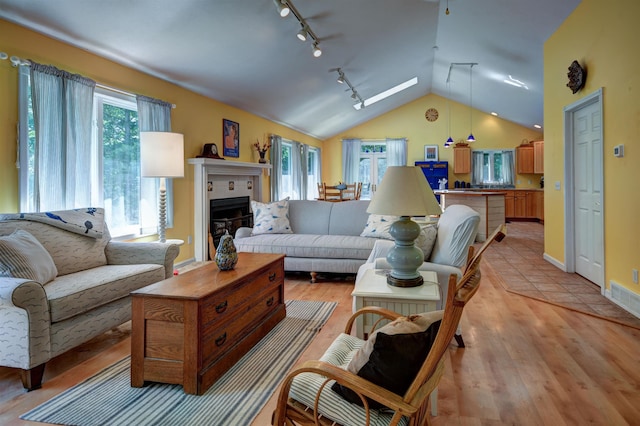
[[[330, 380], [336, 380], [360, 395], [361, 398], [370, 398], [388, 407], [393, 412], [390, 425], [397, 425], [403, 416], [409, 417], [410, 425], [429, 424], [429, 396], [437, 388], [440, 378], [444, 373], [444, 354], [447, 352], [464, 307], [469, 303], [471, 297], [477, 292], [480, 286], [480, 258], [470, 264], [469, 268], [459, 282], [456, 282], [457, 275], [449, 277], [449, 291], [442, 322], [438, 330], [436, 339], [425, 358], [422, 367], [418, 371], [415, 379], [404, 395], [397, 395], [383, 389], [373, 383], [363, 380], [355, 374], [350, 373], [338, 366], [322, 361], [307, 361], [301, 367], [293, 370], [285, 379], [277, 401], [276, 410], [273, 414], [272, 424], [277, 426], [293, 425], [333, 425], [345, 424], [345, 422], [333, 422], [322, 417], [322, 413], [317, 413], [319, 400], [322, 398], [322, 388], [316, 396], [315, 407], [307, 407], [300, 402], [290, 398], [289, 389], [293, 378], [301, 373], [316, 373], [326, 377], [325, 385]], [[388, 319], [395, 319], [400, 314], [388, 311], [379, 307], [365, 307], [356, 312], [351, 317], [345, 328], [345, 334], [349, 334], [354, 323], [354, 317], [358, 314], [376, 313]], [[368, 404], [363, 408], [368, 416]], [[368, 425], [369, 422], [367, 421]]]

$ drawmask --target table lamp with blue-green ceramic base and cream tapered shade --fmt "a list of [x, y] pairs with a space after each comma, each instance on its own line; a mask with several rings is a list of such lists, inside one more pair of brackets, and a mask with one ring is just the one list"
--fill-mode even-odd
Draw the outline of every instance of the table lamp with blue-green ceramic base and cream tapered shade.
[[420, 168], [387, 167], [367, 212], [400, 216], [389, 230], [395, 245], [387, 254], [392, 268], [387, 275], [387, 284], [396, 287], [422, 285], [418, 268], [424, 261], [424, 253], [415, 245], [421, 229], [411, 216], [439, 215], [442, 209]]

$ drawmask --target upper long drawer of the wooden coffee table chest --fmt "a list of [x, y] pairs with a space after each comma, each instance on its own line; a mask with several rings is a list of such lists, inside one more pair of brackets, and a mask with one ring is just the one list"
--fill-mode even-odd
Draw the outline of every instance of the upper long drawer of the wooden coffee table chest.
[[280, 276], [278, 268], [272, 267], [252, 280], [244, 280], [228, 291], [216, 294], [207, 299], [202, 306], [202, 324], [208, 327], [210, 323], [219, 322], [229, 316], [235, 316], [235, 311], [256, 294], [269, 287], [279, 285], [284, 277]]

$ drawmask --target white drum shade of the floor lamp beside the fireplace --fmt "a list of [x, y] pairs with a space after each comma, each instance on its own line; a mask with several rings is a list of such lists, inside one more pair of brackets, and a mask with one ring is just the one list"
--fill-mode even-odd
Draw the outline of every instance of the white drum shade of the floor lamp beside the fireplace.
[[170, 132], [140, 132], [142, 177], [184, 177], [184, 136]]

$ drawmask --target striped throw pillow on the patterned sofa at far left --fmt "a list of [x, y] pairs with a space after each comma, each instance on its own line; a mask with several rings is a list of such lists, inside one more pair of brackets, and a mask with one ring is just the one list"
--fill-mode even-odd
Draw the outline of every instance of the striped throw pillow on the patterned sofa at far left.
[[19, 229], [0, 237], [0, 276], [46, 284], [57, 275], [51, 255], [33, 235]]

